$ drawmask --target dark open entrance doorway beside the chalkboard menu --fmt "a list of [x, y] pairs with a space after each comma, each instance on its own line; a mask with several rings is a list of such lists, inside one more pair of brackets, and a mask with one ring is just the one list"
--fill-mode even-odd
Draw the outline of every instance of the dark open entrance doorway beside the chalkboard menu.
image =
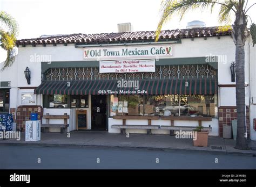
[[106, 122], [107, 122], [106, 95], [92, 95], [91, 103], [92, 103], [91, 104], [92, 105], [91, 129], [106, 131], [106, 128], [107, 128], [106, 126]]

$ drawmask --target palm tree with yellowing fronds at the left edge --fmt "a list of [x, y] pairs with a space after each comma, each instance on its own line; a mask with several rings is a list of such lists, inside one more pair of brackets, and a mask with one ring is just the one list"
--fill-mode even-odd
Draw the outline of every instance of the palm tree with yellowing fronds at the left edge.
[[7, 57], [3, 64], [2, 70], [10, 67], [15, 60], [15, 42], [18, 35], [18, 24], [8, 13], [0, 11], [0, 44], [7, 51]]

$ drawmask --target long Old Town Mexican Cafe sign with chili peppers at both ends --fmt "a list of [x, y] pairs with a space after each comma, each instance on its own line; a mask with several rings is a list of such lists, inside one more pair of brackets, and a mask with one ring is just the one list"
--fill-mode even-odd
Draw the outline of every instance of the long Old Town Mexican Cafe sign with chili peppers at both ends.
[[85, 47], [84, 60], [164, 59], [173, 56], [172, 45]]

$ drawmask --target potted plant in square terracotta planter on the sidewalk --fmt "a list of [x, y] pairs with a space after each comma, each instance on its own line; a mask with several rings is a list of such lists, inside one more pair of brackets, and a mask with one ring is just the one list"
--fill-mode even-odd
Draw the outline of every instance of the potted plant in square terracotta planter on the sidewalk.
[[197, 147], [207, 147], [208, 146], [208, 134], [207, 130], [203, 130], [204, 127], [199, 126], [193, 131], [196, 137], [193, 139], [193, 145]]

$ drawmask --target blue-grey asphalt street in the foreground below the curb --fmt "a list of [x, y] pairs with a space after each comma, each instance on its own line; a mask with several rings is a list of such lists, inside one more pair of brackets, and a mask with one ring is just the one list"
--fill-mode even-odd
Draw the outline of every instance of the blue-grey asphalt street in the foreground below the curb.
[[256, 157], [190, 150], [0, 146], [0, 169], [256, 169]]

